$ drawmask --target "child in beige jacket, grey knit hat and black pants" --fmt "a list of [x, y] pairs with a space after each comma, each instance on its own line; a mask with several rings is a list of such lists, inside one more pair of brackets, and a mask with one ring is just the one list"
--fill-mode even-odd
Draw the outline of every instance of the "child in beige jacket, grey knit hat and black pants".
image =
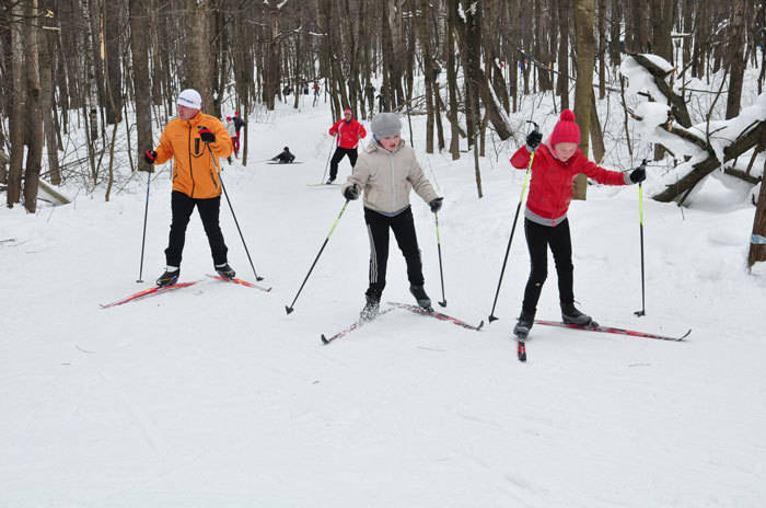
[[370, 286], [364, 293], [367, 304], [362, 320], [378, 314], [385, 287], [388, 262], [388, 230], [394, 231], [407, 263], [409, 291], [423, 309], [431, 300], [423, 288], [422, 262], [415, 234], [409, 192], [416, 193], [439, 211], [442, 199], [437, 196], [415, 158], [415, 150], [401, 138], [402, 120], [395, 113], [379, 113], [372, 118], [373, 141], [359, 155], [353, 173], [341, 187], [346, 199], [357, 199], [364, 192], [364, 222], [370, 235]]

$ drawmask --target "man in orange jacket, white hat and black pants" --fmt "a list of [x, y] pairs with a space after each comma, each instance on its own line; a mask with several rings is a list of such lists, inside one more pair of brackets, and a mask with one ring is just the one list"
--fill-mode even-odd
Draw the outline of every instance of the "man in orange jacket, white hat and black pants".
[[[177, 107], [178, 117], [165, 126], [160, 146], [155, 150], [147, 150], [143, 155], [149, 164], [162, 164], [173, 159], [173, 221], [165, 249], [167, 266], [156, 279], [156, 285], [169, 286], [178, 280], [186, 226], [195, 207], [208, 235], [216, 272], [222, 277], [233, 278], [235, 274], [227, 261], [228, 249], [218, 222], [221, 210], [219, 159], [231, 155], [231, 137], [218, 118], [199, 111], [202, 97], [196, 90], [181, 92]], [[214, 164], [213, 158], [217, 161]]]

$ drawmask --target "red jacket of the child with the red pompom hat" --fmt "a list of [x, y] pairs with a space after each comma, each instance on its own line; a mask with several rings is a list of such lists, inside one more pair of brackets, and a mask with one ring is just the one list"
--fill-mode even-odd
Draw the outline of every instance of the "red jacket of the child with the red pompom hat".
[[[519, 170], [529, 166], [530, 152], [525, 146], [511, 157], [511, 164]], [[601, 184], [626, 185], [625, 174], [595, 165], [579, 149], [567, 162], [561, 162], [547, 145], [541, 145], [532, 163], [532, 182], [526, 208], [546, 219], [564, 217], [572, 200], [572, 182], [579, 173]]]

